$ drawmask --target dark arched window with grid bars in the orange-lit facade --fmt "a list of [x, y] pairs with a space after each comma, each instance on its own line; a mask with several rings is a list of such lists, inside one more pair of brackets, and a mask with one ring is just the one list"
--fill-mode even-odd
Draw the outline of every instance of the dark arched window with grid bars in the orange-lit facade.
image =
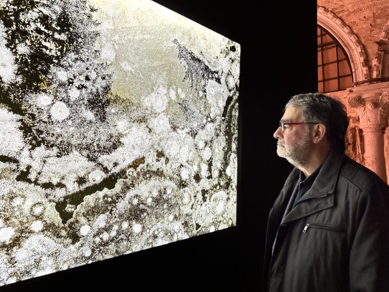
[[318, 26], [318, 91], [332, 92], [353, 86], [350, 62], [342, 47]]

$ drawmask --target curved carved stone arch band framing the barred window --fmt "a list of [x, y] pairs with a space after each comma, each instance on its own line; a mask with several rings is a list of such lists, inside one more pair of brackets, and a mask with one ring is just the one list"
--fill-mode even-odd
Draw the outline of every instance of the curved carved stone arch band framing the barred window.
[[337, 15], [318, 6], [318, 25], [326, 29], [344, 48], [353, 71], [354, 84], [370, 79], [367, 55], [358, 36]]

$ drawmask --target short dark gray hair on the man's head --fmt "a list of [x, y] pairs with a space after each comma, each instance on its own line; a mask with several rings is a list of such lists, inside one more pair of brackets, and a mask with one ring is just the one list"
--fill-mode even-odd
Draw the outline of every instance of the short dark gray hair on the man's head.
[[343, 103], [321, 93], [304, 93], [292, 96], [285, 105], [285, 109], [288, 106], [300, 107], [304, 122], [324, 124], [331, 148], [345, 150], [344, 137], [348, 127], [348, 118]]

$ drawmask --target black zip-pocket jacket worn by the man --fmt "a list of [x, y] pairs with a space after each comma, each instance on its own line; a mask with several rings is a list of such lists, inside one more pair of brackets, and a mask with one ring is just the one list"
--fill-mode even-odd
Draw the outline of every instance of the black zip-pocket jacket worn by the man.
[[313, 186], [284, 214], [298, 178], [295, 168], [269, 213], [265, 290], [389, 292], [388, 185], [331, 152]]

